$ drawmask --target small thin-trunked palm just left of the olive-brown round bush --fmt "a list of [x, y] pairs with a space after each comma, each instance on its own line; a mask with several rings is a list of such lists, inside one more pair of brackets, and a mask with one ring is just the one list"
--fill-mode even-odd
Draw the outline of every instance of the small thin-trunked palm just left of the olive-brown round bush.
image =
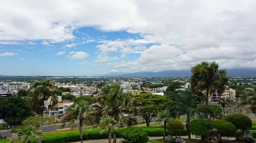
[[157, 118], [163, 123], [163, 139], [166, 136], [166, 124], [172, 120], [172, 115], [169, 110], [162, 110], [158, 113]]

